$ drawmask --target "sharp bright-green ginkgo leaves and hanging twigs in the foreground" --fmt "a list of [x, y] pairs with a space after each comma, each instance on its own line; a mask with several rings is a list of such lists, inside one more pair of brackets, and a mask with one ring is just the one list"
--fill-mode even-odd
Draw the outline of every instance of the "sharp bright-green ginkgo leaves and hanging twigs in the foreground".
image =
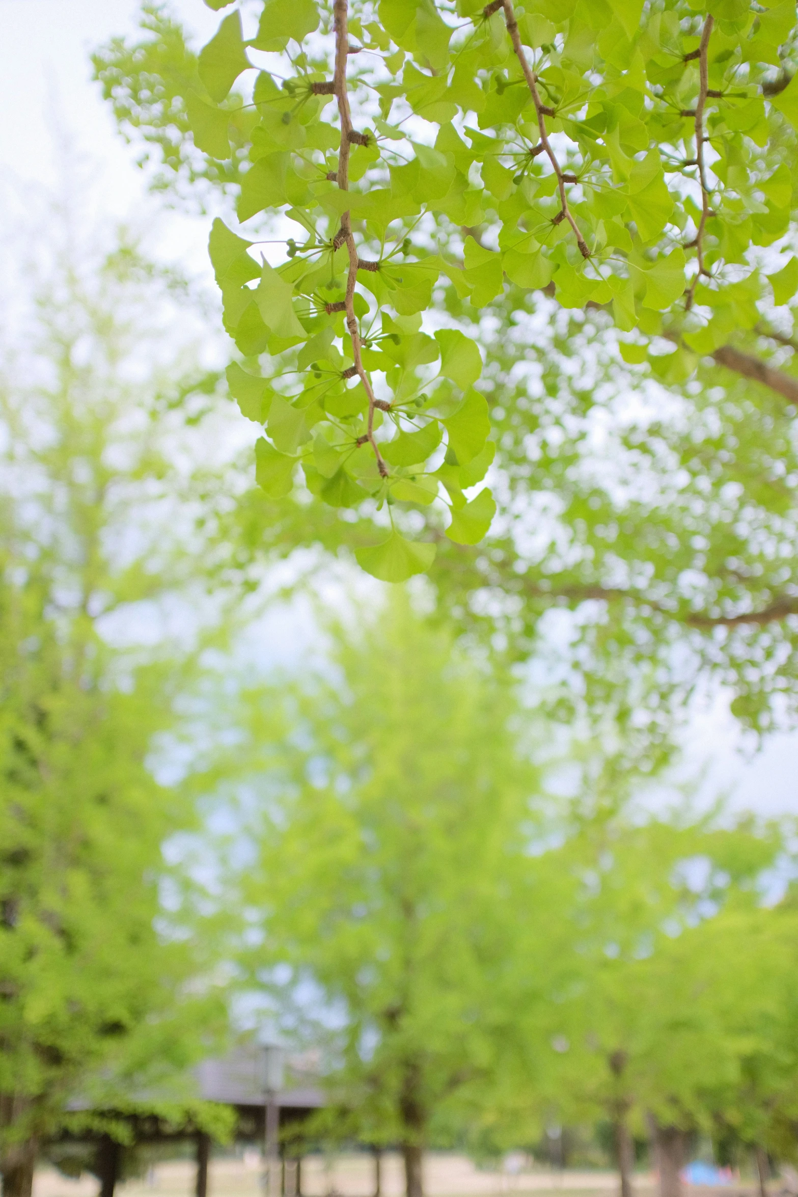
[[548, 288], [632, 356], [662, 338], [796, 397], [727, 344], [798, 284], [790, 4], [206, 2], [230, 11], [166, 107], [205, 156], [189, 186], [239, 184], [244, 229], [211, 235], [230, 388], [267, 494], [301, 466], [323, 503], [384, 512], [368, 572], [424, 571], [444, 522], [475, 543], [495, 511], [481, 354], [441, 294]]

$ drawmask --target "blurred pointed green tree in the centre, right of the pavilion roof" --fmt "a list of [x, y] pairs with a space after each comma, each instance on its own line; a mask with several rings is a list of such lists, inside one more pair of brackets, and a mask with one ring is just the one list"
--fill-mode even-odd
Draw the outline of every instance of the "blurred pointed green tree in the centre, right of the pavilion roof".
[[400, 591], [335, 634], [312, 683], [240, 710], [257, 844], [226, 900], [256, 944], [242, 962], [294, 1010], [310, 986], [313, 1038], [340, 1028], [335, 1132], [400, 1143], [420, 1197], [422, 1149], [482, 1100], [507, 1017], [495, 990], [540, 788], [519, 709]]

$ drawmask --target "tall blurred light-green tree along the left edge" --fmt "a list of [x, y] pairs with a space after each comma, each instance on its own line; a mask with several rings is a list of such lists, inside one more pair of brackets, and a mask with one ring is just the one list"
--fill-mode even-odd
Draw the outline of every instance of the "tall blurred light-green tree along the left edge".
[[165, 1110], [190, 1105], [175, 1077], [221, 1014], [215, 988], [196, 988], [207, 960], [159, 901], [164, 840], [193, 822], [153, 773], [195, 672], [169, 604], [182, 596], [183, 624], [201, 626], [178, 506], [201, 480], [166, 402], [189, 361], [184, 338], [164, 353], [177, 284], [129, 239], [103, 255], [97, 230], [87, 244], [68, 211], [47, 217], [38, 262], [6, 256], [19, 278], [0, 363], [5, 1197], [30, 1197], [38, 1142], [86, 1117], [69, 1100], [123, 1108], [165, 1084]]

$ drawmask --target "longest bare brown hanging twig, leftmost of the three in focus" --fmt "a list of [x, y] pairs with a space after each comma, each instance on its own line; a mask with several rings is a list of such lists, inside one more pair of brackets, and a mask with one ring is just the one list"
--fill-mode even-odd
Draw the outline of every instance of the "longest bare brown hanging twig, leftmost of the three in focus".
[[[349, 110], [349, 95], [347, 91], [346, 80], [346, 66], [347, 57], [349, 54], [349, 32], [347, 28], [347, 16], [348, 16], [348, 0], [335, 0], [333, 6], [333, 16], [335, 24], [335, 74], [333, 79], [333, 86], [335, 91], [335, 97], [339, 105], [339, 115], [341, 117], [341, 150], [339, 153], [339, 172], [337, 172], [337, 184], [342, 192], [349, 190], [349, 151], [352, 145], [363, 145], [366, 138], [363, 133], [359, 133], [352, 124], [352, 113]], [[346, 322], [349, 330], [349, 336], [352, 339], [352, 357], [354, 358], [354, 365], [357, 373], [364, 385], [366, 395], [368, 397], [368, 418], [366, 425], [366, 435], [360, 438], [363, 444], [368, 442], [374, 451], [377, 458], [377, 469], [382, 478], [388, 478], [388, 466], [385, 464], [383, 456], [374, 440], [374, 409], [377, 407], [386, 408], [390, 405], [383, 403], [374, 397], [374, 391], [371, 385], [371, 379], [366, 373], [363, 365], [363, 357], [360, 353], [360, 333], [358, 330], [358, 317], [354, 312], [354, 287], [358, 281], [358, 267], [361, 265], [358, 257], [358, 248], [354, 243], [354, 235], [352, 232], [352, 221], [349, 219], [349, 212], [346, 211], [341, 215], [341, 227], [333, 239], [333, 245], [339, 249], [341, 245], [346, 244], [349, 254], [349, 269], [347, 272], [347, 287], [346, 287]]]

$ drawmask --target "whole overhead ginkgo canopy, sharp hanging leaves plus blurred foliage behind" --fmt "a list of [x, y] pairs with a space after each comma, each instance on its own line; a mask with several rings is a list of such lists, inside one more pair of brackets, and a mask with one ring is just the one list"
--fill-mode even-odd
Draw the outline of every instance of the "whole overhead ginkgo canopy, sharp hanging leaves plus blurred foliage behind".
[[648, 731], [708, 674], [778, 723], [790, 6], [211, 7], [199, 56], [145, 6], [95, 61], [154, 186], [220, 213], [255, 543], [431, 569], [525, 650], [565, 604], [593, 706], [622, 676]]

